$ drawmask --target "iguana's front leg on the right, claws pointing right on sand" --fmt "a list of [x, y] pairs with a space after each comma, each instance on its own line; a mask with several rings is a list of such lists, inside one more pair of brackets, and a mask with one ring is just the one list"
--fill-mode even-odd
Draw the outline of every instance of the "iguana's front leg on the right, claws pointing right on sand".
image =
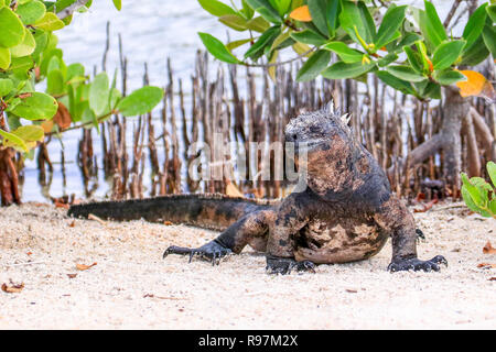
[[412, 215], [398, 198], [391, 196], [375, 216], [376, 222], [391, 233], [392, 260], [388, 266], [390, 272], [399, 271], [435, 271], [439, 264], [448, 265], [442, 255], [436, 255], [429, 261], [417, 257], [417, 229]]

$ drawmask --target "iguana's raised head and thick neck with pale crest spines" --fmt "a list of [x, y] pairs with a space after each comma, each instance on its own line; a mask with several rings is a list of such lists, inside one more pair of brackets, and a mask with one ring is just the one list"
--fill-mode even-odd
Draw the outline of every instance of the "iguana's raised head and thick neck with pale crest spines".
[[[389, 182], [347, 124], [347, 116], [334, 111], [331, 102], [322, 110], [291, 120], [285, 141], [294, 143], [299, 168], [305, 169], [306, 185], [315, 194], [332, 201], [377, 206], [389, 197]], [[306, 161], [301, 160], [304, 152]]]

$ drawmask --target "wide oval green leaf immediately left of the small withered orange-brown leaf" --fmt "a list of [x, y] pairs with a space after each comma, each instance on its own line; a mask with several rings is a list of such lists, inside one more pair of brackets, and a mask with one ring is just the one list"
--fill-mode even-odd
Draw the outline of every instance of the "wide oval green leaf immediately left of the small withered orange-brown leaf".
[[12, 113], [26, 120], [50, 120], [57, 112], [57, 101], [45, 94], [32, 92], [12, 109]]

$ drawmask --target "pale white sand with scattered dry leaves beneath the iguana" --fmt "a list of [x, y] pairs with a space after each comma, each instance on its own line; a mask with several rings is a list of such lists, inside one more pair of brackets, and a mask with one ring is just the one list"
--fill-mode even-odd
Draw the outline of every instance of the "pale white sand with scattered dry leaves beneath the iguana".
[[[316, 274], [269, 276], [247, 249], [213, 267], [169, 256], [216, 233], [184, 226], [74, 220], [64, 209], [0, 209], [1, 329], [495, 329], [496, 221], [463, 207], [416, 213], [419, 256], [443, 254], [441, 273], [386, 271], [390, 244], [369, 261]], [[28, 254], [31, 253], [31, 254]], [[32, 262], [25, 265], [24, 263]], [[77, 271], [76, 264], [97, 265]], [[69, 278], [67, 274], [77, 274]]]

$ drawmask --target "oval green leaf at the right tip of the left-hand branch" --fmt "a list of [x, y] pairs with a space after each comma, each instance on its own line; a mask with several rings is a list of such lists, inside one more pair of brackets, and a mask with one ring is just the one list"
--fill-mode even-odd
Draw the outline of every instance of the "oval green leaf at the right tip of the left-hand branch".
[[133, 117], [150, 112], [163, 98], [163, 89], [143, 87], [123, 98], [117, 105], [117, 110], [125, 117]]

